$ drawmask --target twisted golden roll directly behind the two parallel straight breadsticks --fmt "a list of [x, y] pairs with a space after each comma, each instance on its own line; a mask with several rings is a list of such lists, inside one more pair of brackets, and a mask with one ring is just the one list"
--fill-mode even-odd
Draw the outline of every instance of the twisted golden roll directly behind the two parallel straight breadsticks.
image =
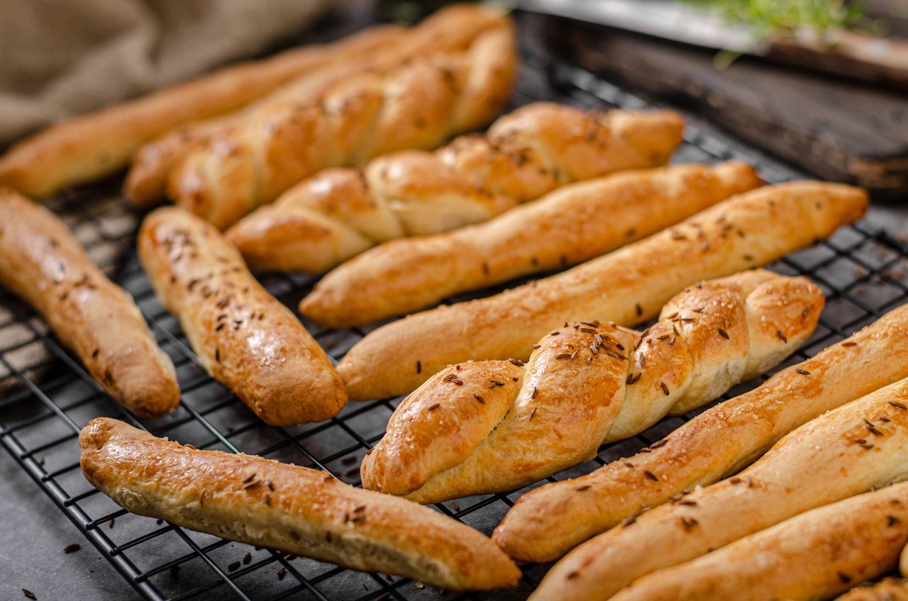
[[361, 172], [321, 172], [227, 236], [252, 269], [327, 271], [380, 242], [483, 222], [558, 185], [664, 164], [683, 128], [667, 111], [533, 103], [435, 153], [401, 151]]

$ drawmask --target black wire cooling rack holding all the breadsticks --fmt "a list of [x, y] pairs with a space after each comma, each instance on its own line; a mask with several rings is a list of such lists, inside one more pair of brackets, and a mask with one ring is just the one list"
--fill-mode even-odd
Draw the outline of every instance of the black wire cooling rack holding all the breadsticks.
[[[634, 94], [570, 64], [553, 63], [532, 47], [522, 67], [514, 104], [554, 100], [581, 106], [639, 109], [651, 106]], [[713, 163], [729, 159], [755, 164], [769, 182], [799, 173], [735, 143], [688, 115], [685, 143], [676, 162]], [[518, 588], [487, 596], [453, 596], [405, 578], [368, 575], [271, 549], [258, 549], [204, 535], [117, 507], [92, 488], [79, 469], [77, 435], [98, 416], [113, 416], [161, 437], [197, 448], [245, 452], [325, 469], [359, 485], [360, 460], [384, 432], [399, 399], [351, 402], [334, 419], [297, 428], [263, 424], [229, 390], [201, 368], [179, 324], [154, 298], [134, 250], [139, 215], [119, 197], [119, 182], [71, 192], [51, 201], [93, 258], [135, 297], [153, 331], [177, 367], [183, 389], [179, 408], [164, 419], [138, 421], [94, 383], [35, 311], [0, 291], [0, 442], [53, 499], [94, 547], [142, 596], [183, 599], [522, 599], [548, 566], [525, 569]], [[827, 295], [826, 308], [811, 340], [785, 365], [804, 360], [908, 300], [908, 247], [868, 222], [842, 228], [828, 240], [770, 266], [804, 274]], [[311, 290], [315, 278], [260, 274], [262, 283], [291, 308]], [[513, 282], [511, 282], [513, 284]], [[501, 287], [503, 288], [503, 287]], [[483, 291], [482, 294], [500, 290]], [[476, 295], [474, 295], [476, 296]], [[462, 296], [453, 300], [470, 298]], [[334, 360], [371, 328], [324, 330], [306, 326]], [[731, 390], [751, 389], [759, 380]], [[635, 453], [686, 419], [665, 419], [643, 434], [600, 449], [593, 461], [550, 481], [575, 477], [618, 457]], [[541, 484], [541, 483], [539, 483]], [[538, 485], [535, 485], [538, 486]], [[533, 488], [533, 487], [530, 487]], [[439, 504], [439, 511], [489, 534], [526, 489]]]

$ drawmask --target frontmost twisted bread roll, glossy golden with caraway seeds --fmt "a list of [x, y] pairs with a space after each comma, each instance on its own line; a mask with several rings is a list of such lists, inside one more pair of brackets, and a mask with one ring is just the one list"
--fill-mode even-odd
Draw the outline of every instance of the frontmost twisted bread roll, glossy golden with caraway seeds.
[[642, 337], [575, 321], [539, 340], [526, 366], [449, 366], [395, 409], [362, 486], [420, 503], [524, 487], [772, 368], [810, 337], [823, 304], [804, 278], [745, 271], [686, 288]]

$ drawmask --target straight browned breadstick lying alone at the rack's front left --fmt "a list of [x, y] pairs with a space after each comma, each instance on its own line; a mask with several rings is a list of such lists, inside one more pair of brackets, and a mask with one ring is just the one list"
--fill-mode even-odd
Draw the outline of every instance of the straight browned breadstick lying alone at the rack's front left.
[[476, 530], [406, 499], [353, 488], [327, 472], [197, 450], [116, 419], [79, 435], [85, 478], [143, 516], [443, 588], [514, 586], [520, 571]]

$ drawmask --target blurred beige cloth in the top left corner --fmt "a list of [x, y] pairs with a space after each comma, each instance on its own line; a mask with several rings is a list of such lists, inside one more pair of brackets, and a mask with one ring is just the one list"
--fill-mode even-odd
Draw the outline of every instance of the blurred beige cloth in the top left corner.
[[335, 0], [0, 0], [0, 147], [261, 54]]

